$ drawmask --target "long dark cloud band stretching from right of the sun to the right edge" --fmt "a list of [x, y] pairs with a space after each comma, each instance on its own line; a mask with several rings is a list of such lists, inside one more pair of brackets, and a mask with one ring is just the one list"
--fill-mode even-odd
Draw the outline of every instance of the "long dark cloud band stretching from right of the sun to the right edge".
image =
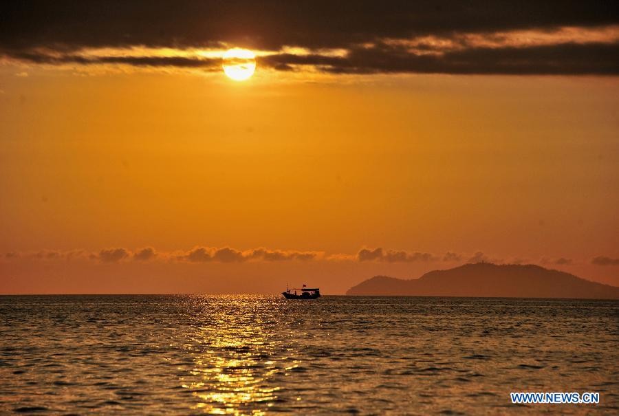
[[[294, 55], [293, 55], [294, 56]], [[274, 67], [314, 65], [334, 74], [619, 74], [619, 45], [607, 43], [534, 47], [473, 47], [440, 54], [415, 54], [402, 45], [354, 47], [345, 57], [272, 55]]]

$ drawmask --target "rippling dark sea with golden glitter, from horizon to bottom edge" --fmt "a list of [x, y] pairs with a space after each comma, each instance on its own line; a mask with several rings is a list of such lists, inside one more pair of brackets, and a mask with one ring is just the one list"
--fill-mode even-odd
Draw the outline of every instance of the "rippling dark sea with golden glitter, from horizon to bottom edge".
[[618, 324], [601, 300], [0, 296], [0, 413], [616, 415]]

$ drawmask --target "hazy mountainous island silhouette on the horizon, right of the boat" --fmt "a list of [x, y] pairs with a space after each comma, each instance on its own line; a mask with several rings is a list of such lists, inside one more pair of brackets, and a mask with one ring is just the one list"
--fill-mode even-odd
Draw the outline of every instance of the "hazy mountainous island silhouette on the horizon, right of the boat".
[[404, 280], [374, 276], [347, 295], [619, 299], [619, 287], [538, 265], [465, 264]]

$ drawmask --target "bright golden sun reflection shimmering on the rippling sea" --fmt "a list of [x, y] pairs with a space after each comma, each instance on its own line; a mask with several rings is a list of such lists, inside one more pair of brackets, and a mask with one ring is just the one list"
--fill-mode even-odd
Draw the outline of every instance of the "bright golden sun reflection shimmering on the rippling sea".
[[252, 311], [244, 300], [230, 298], [208, 316], [208, 325], [195, 328], [185, 348], [194, 366], [182, 376], [182, 387], [197, 399], [194, 410], [220, 415], [263, 415], [278, 399], [277, 373], [286, 366], [272, 360], [282, 342], [274, 321]]

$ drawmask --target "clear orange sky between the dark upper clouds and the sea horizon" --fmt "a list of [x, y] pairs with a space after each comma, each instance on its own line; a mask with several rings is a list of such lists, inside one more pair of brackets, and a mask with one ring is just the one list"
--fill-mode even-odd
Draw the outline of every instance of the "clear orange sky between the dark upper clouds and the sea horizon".
[[[308, 83], [265, 71], [235, 83], [4, 65], [0, 89], [0, 250], [17, 255], [0, 263], [5, 293], [270, 292], [286, 281], [342, 293], [476, 252], [619, 285], [618, 267], [591, 264], [619, 256], [613, 77]], [[319, 253], [171, 259], [196, 246]], [[36, 257], [144, 247], [158, 256]], [[360, 262], [364, 247], [432, 258]]]

